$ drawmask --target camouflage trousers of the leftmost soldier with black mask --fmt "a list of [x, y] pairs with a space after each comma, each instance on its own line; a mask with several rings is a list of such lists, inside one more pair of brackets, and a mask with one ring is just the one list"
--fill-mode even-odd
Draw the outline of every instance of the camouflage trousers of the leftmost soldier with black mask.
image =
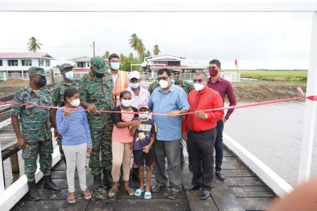
[[25, 139], [22, 158], [27, 181], [35, 180], [37, 155], [39, 155], [39, 169], [45, 176], [51, 175], [51, 153], [53, 153], [53, 143], [51, 139], [46, 139], [45, 134], [37, 135], [36, 139]]

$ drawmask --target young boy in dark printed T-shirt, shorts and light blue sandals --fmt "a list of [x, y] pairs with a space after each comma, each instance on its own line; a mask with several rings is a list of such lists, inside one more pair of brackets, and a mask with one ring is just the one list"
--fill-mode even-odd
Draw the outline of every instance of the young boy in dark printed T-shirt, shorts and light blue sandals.
[[130, 132], [132, 136], [135, 136], [133, 141], [134, 165], [139, 167], [139, 188], [135, 191], [135, 196], [141, 196], [144, 192], [143, 170], [145, 164], [147, 186], [145, 187], [144, 199], [151, 199], [151, 166], [154, 165], [153, 143], [157, 129], [154, 120], [149, 118], [147, 103], [142, 103], [139, 106], [139, 127], [132, 127]]

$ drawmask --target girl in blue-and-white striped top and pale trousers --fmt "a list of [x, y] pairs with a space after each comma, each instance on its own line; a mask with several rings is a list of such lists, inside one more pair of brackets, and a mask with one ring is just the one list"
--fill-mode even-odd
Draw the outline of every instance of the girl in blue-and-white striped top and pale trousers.
[[56, 112], [57, 131], [62, 136], [62, 148], [66, 158], [66, 174], [68, 183], [68, 203], [76, 203], [75, 199], [75, 167], [77, 167], [82, 197], [92, 198], [87, 191], [86, 184], [86, 153], [92, 152], [92, 138], [90, 136], [86, 113], [80, 108], [80, 94], [77, 89], [65, 90], [63, 101], [66, 106]]

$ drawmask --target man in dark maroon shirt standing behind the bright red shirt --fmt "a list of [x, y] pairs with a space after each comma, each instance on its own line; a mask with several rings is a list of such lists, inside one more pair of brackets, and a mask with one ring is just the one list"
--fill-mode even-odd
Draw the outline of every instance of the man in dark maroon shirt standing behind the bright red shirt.
[[[221, 63], [219, 60], [213, 59], [209, 62], [210, 78], [208, 79], [207, 86], [215, 91], [218, 91], [223, 103], [225, 103], [225, 96], [228, 97], [229, 106], [235, 106], [237, 101], [235, 100], [235, 93], [233, 92], [232, 85], [226, 79], [220, 77]], [[223, 163], [223, 124], [229, 119], [234, 109], [228, 109], [225, 117], [217, 122], [217, 138], [215, 143], [216, 158], [215, 158], [215, 170], [216, 176], [221, 181], [225, 180], [225, 174], [221, 173], [221, 165]]]

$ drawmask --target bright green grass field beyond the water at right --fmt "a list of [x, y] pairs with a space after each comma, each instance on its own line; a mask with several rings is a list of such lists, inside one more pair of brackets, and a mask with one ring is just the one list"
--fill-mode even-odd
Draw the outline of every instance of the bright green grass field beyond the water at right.
[[240, 71], [241, 77], [277, 82], [306, 82], [306, 71]]

